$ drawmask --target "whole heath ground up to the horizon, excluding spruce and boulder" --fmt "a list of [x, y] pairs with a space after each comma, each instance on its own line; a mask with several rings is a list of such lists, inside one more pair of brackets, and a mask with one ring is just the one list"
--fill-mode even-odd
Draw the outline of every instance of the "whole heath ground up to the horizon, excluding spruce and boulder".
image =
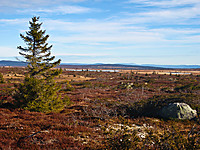
[[57, 113], [14, 108], [14, 84], [23, 81], [26, 70], [0, 72], [5, 80], [0, 84], [1, 149], [199, 148], [199, 116], [165, 120], [146, 105], [183, 101], [199, 112], [198, 70], [63, 71], [56, 81], [62, 98], [67, 95], [71, 102]]

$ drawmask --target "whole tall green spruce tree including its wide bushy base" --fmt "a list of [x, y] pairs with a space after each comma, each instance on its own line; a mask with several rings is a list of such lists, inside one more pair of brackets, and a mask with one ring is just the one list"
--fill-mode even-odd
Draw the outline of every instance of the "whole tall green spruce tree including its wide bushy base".
[[33, 17], [29, 22], [30, 30], [26, 35], [20, 34], [27, 46], [17, 48], [28, 62], [28, 73], [14, 97], [20, 108], [42, 112], [57, 111], [65, 105], [65, 100], [58, 94], [60, 86], [54, 81], [61, 74], [61, 69], [54, 68], [61, 60], [52, 62], [55, 56], [51, 56], [52, 45], [47, 43], [49, 35], [41, 30], [42, 23], [38, 21], [39, 17]]

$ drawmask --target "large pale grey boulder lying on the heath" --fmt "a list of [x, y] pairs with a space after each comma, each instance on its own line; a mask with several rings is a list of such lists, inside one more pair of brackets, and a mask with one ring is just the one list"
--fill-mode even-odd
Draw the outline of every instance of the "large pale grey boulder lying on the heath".
[[192, 119], [197, 116], [197, 111], [193, 110], [186, 103], [170, 103], [160, 111], [162, 118]]

